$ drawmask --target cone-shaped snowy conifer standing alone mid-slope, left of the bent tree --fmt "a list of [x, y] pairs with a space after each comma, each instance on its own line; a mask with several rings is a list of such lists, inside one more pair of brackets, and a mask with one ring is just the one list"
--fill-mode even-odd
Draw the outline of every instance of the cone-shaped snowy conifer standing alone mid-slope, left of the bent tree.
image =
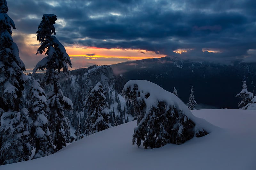
[[110, 114], [105, 100], [102, 85], [98, 82], [85, 101], [88, 114], [85, 120], [86, 136], [111, 127], [109, 124]]

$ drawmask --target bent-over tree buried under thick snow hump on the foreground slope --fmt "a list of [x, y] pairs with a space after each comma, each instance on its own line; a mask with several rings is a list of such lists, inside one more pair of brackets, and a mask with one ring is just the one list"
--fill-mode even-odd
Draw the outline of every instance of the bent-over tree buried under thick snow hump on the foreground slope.
[[[156, 148], [165, 144], [183, 144], [192, 137], [211, 132], [210, 124], [192, 115], [188, 107], [174, 94], [146, 80], [130, 80], [123, 95], [134, 103], [137, 127], [132, 144]], [[198, 126], [198, 124], [200, 124]]]

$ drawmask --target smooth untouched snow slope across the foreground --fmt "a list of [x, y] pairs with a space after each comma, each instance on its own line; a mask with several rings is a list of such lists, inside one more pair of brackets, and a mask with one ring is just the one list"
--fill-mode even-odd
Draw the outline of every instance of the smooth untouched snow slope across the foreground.
[[133, 121], [92, 134], [53, 155], [0, 169], [256, 169], [255, 111], [209, 109], [192, 113], [220, 128], [181, 145], [146, 150], [132, 145]]

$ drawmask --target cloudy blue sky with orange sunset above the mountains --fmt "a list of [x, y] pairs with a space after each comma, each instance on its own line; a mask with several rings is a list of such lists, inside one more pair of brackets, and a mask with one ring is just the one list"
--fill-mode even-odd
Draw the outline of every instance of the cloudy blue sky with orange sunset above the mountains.
[[57, 15], [56, 38], [72, 69], [155, 57], [256, 62], [255, 0], [7, 0], [12, 37], [26, 69], [43, 14]]

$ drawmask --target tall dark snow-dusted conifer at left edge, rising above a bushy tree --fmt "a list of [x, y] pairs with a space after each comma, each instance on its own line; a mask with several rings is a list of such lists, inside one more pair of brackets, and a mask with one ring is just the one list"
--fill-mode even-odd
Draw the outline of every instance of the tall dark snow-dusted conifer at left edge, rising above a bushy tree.
[[19, 49], [12, 40], [14, 22], [6, 14], [6, 0], [0, 0], [0, 108], [5, 112], [19, 111], [20, 98], [26, 80], [24, 63], [20, 60]]

